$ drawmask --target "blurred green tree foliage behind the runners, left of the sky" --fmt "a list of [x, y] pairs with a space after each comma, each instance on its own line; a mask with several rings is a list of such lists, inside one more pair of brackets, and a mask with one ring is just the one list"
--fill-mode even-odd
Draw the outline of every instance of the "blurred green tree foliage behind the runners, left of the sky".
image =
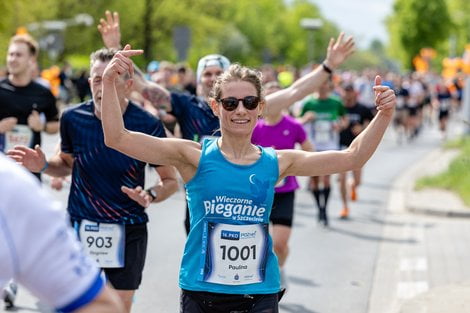
[[[455, 0], [457, 1], [457, 0]], [[122, 43], [142, 48], [145, 54], [136, 58], [145, 66], [151, 60], [177, 61], [173, 29], [186, 26], [191, 32], [191, 45], [186, 60], [195, 67], [197, 60], [209, 53], [222, 53], [234, 62], [257, 66], [262, 63], [303, 66], [313, 47], [313, 61], [325, 57], [331, 37], [338, 27], [321, 15], [310, 0], [5, 0], [0, 1], [0, 60], [5, 60], [8, 39], [19, 26], [45, 20], [67, 20], [77, 14], [93, 17], [92, 26], [76, 25], [63, 32], [64, 50], [57, 59], [43, 51], [41, 65], [65, 60], [83, 66], [90, 52], [102, 47], [96, 29], [105, 10], [120, 13]], [[19, 13], [21, 12], [21, 14]], [[311, 33], [302, 29], [302, 18], [320, 18], [323, 27]], [[46, 31], [31, 31], [42, 38]], [[350, 64], [376, 64], [374, 59], [357, 57]], [[0, 64], [3, 61], [0, 61]], [[357, 67], [357, 66], [356, 66]]]

